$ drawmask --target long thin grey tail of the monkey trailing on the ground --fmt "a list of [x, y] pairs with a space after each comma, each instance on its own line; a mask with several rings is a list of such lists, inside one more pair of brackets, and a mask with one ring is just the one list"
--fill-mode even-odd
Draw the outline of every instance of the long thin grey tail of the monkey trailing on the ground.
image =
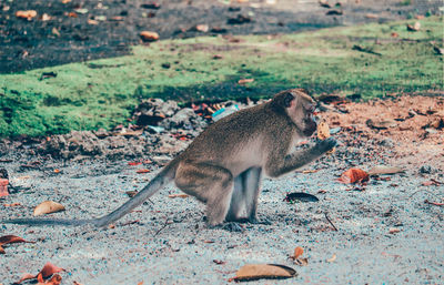
[[64, 218], [13, 218], [0, 221], [0, 224], [20, 224], [20, 225], [67, 225], [79, 226], [91, 224], [94, 226], [105, 226], [121, 218], [134, 207], [142, 204], [145, 200], [154, 195], [159, 190], [170, 183], [175, 176], [178, 169], [178, 160], [171, 161], [162, 171], [150, 181], [135, 196], [127, 201], [123, 205], [114, 210], [108, 215], [91, 220], [64, 220]]

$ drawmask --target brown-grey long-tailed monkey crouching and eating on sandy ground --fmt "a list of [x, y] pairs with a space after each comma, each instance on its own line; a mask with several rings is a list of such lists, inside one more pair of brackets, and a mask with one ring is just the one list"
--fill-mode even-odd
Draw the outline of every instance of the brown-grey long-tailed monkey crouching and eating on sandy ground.
[[271, 100], [209, 125], [137, 195], [115, 211], [91, 220], [16, 218], [26, 225], [107, 226], [141, 205], [167, 184], [205, 204], [209, 227], [261, 223], [256, 216], [262, 176], [279, 177], [320, 157], [336, 145], [333, 138], [307, 149], [295, 143], [316, 130], [316, 102], [304, 89], [281, 91]]

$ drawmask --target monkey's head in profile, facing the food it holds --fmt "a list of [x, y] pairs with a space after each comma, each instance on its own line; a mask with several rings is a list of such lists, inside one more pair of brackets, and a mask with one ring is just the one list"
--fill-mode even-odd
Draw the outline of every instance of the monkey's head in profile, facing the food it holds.
[[283, 106], [289, 118], [305, 136], [311, 136], [316, 131], [314, 111], [316, 102], [304, 89], [290, 89], [278, 93], [273, 101]]

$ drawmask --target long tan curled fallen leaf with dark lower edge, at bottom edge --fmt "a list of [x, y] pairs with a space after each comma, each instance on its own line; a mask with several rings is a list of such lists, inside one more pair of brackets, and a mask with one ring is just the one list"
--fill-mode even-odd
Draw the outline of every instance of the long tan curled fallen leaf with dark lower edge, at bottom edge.
[[242, 266], [234, 277], [235, 281], [254, 281], [261, 278], [291, 278], [296, 276], [296, 271], [280, 264], [246, 264]]

